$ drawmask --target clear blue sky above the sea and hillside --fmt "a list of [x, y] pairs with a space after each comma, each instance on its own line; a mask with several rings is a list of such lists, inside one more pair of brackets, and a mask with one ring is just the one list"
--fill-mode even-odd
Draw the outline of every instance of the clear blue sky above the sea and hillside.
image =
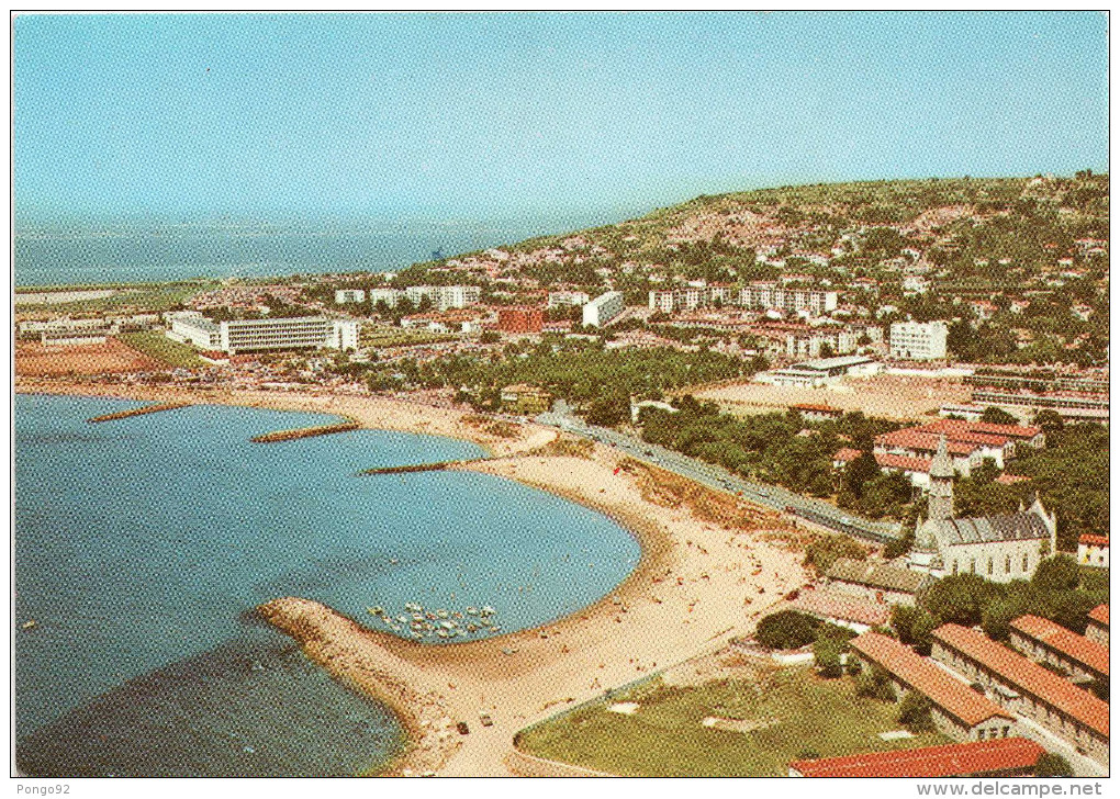
[[1105, 37], [1092, 12], [22, 16], [17, 213], [622, 216], [1104, 171]]

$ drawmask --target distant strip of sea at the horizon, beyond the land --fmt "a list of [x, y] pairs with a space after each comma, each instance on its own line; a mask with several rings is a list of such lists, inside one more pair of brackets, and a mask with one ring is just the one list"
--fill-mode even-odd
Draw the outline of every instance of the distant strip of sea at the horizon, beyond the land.
[[188, 278], [398, 271], [435, 253], [494, 247], [608, 219], [501, 224], [220, 226], [20, 229], [16, 284], [153, 282]]

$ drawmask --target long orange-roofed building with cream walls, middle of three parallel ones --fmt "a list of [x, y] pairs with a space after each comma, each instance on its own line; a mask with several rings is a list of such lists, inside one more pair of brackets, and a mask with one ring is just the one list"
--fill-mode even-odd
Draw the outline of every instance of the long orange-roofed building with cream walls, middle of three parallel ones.
[[933, 631], [933, 658], [983, 686], [986, 695], [1076, 746], [1109, 761], [1109, 705], [1053, 671], [959, 624]]

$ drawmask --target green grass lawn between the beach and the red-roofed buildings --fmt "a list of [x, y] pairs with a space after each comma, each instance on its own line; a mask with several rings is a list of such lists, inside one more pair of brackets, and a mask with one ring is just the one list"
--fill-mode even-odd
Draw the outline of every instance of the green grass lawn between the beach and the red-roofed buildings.
[[[605, 704], [578, 708], [524, 731], [521, 746], [550, 760], [631, 777], [785, 777], [791, 760], [932, 746], [940, 733], [888, 742], [898, 706], [856, 696], [850, 677], [821, 679], [810, 668], [775, 671], [765, 683], [642, 686], [613, 702], [636, 702], [634, 715]], [[750, 732], [703, 727], [704, 716], [765, 724]]]

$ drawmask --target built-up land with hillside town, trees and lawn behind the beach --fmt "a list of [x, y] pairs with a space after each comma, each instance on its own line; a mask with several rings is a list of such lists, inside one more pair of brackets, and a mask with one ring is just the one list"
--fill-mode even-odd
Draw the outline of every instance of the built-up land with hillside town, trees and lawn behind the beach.
[[[452, 408], [780, 520], [805, 579], [748, 634], [557, 708], [526, 759], [1102, 776], [1108, 179], [783, 187], [400, 272], [20, 290], [16, 382]], [[698, 725], [753, 753], [684, 758]]]

